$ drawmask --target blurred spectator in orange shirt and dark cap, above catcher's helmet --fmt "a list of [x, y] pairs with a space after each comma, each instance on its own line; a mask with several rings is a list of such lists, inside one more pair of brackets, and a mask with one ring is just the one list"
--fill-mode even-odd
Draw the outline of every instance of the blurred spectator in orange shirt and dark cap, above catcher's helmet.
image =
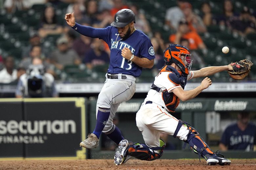
[[170, 35], [169, 41], [174, 44], [180, 44], [181, 38], [187, 39], [189, 41], [189, 50], [206, 49], [206, 46], [198, 33], [195, 31], [190, 31], [188, 23], [184, 19], [180, 21], [177, 33]]

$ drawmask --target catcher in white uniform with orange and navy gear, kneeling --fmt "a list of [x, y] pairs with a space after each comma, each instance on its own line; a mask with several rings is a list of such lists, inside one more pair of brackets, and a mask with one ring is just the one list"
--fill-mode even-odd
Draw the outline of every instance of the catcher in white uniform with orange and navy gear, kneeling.
[[166, 66], [155, 77], [152, 88], [136, 114], [137, 127], [143, 135], [145, 144], [129, 145], [128, 141], [123, 139], [114, 156], [116, 165], [126, 162], [131, 156], [146, 161], [160, 158], [165, 147], [165, 142], [160, 139], [160, 132], [178, 137], [185, 144], [189, 144], [199, 158], [202, 156], [208, 165], [229, 165], [231, 163], [219, 152], [214, 153], [196, 129], [170, 114], [175, 112], [180, 100], [192, 99], [212, 84], [210, 78], [206, 77], [200, 86], [184, 91], [187, 80], [232, 70], [232, 66], [226, 65], [190, 71], [192, 60], [187, 59], [190, 55], [186, 47], [178, 44], [169, 44], [164, 51]]

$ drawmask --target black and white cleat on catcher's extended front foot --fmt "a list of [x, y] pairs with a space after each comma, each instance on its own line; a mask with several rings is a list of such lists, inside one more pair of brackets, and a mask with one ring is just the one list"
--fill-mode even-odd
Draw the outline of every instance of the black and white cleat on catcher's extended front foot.
[[219, 164], [221, 166], [223, 165], [230, 165], [231, 161], [228, 159], [225, 159], [224, 156], [220, 153], [216, 153], [214, 155], [205, 155], [206, 157], [206, 163], [207, 165], [216, 165]]

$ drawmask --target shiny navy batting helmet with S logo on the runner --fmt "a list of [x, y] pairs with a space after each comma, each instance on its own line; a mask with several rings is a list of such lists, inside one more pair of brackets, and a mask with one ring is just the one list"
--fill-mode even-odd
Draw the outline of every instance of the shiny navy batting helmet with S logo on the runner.
[[111, 26], [124, 27], [131, 22], [135, 23], [135, 14], [131, 9], [121, 9], [115, 14], [114, 20]]

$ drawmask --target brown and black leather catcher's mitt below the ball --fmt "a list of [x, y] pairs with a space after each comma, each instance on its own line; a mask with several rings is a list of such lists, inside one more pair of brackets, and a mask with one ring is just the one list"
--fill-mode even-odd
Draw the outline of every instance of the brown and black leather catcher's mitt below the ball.
[[249, 74], [253, 63], [248, 59], [243, 59], [229, 65], [231, 65], [233, 69], [232, 71], [228, 71], [229, 76], [236, 80], [242, 80]]

